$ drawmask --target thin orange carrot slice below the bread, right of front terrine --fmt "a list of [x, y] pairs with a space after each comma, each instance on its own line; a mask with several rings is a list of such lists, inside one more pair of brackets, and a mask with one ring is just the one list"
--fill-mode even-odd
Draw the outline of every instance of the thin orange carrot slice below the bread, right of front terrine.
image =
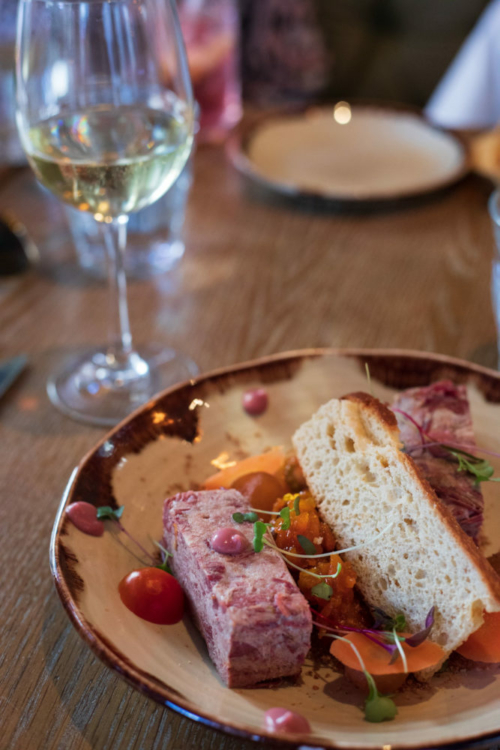
[[[400, 633], [399, 635], [409, 635]], [[372, 675], [380, 674], [399, 674], [404, 672], [404, 665], [401, 656], [390, 664], [392, 655], [382, 646], [378, 646], [370, 641], [362, 633], [349, 633], [344, 636], [348, 641], [353, 643], [361, 654], [365, 664], [365, 669]], [[438, 664], [444, 657], [445, 653], [441, 646], [432, 641], [424, 641], [420, 646], [412, 648], [401, 642], [408, 663], [408, 672], [419, 672], [421, 669], [427, 669], [434, 664]], [[330, 647], [330, 653], [335, 656], [342, 664], [351, 669], [360, 669], [359, 659], [354, 653], [354, 649], [345, 641], [333, 641]]]

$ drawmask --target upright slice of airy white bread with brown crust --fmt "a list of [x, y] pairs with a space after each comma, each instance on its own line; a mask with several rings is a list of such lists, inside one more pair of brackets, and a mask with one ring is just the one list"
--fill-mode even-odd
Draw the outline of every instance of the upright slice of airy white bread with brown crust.
[[[435, 606], [430, 639], [454, 651], [500, 611], [500, 577], [401, 451], [394, 414], [354, 393], [322, 406], [293, 436], [309, 489], [366, 601], [404, 613], [412, 632]], [[426, 674], [425, 677], [430, 676]]]

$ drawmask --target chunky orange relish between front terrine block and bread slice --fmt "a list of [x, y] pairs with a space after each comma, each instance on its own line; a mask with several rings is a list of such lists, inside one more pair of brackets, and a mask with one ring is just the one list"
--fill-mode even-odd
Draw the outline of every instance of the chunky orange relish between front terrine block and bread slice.
[[[283, 520], [278, 518], [274, 521], [274, 538], [276, 545], [282, 550], [304, 554], [297, 536], [301, 534], [307, 537], [315, 546], [316, 553], [332, 552], [330, 557], [303, 558], [291, 557], [295, 565], [303, 568], [299, 574], [298, 586], [306, 599], [311, 602], [313, 609], [328, 617], [337, 625], [348, 625], [349, 627], [363, 627], [368, 624], [365, 607], [359, 599], [354, 588], [356, 584], [356, 573], [353, 567], [345, 559], [336, 555], [335, 536], [330, 527], [319, 517], [316, 504], [310, 492], [299, 493], [299, 513], [295, 513], [295, 498], [297, 494], [285, 495], [274, 504], [273, 510], [280, 511], [285, 505], [290, 508], [290, 528], [282, 529]], [[338, 563], [342, 568], [336, 578], [323, 578], [322, 580], [331, 586], [333, 593], [329, 601], [321, 599], [311, 593], [311, 589], [322, 580], [308, 575], [307, 571], [318, 575], [333, 575], [337, 572]], [[292, 569], [293, 572], [293, 569]]]

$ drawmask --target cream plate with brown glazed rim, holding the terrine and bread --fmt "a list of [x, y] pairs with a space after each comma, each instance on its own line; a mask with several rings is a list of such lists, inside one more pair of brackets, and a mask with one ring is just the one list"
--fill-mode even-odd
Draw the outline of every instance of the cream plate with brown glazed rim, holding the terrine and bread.
[[[188, 616], [151, 625], [129, 612], [118, 582], [138, 567], [127, 539], [109, 529], [90, 537], [64, 510], [85, 500], [124, 505], [123, 523], [153, 550], [162, 535], [162, 502], [213, 473], [212, 462], [239, 459], [290, 436], [322, 403], [366, 390], [376, 395], [441, 378], [466, 383], [479, 445], [500, 452], [500, 375], [447, 357], [405, 351], [309, 350], [219, 370], [166, 391], [122, 422], [82, 460], [64, 494], [51, 541], [57, 591], [74, 626], [111, 669], [154, 700], [241, 737], [298, 748], [490, 747], [500, 742], [500, 670], [443, 674], [430, 687], [399, 694], [393, 722], [369, 724], [362, 698], [330, 665], [306, 662], [298, 684], [229, 690], [220, 682]], [[259, 418], [242, 394], [263, 385], [269, 409]], [[500, 460], [492, 459], [500, 471]], [[484, 486], [484, 485], [483, 485]], [[484, 486], [485, 554], [500, 549], [500, 490]], [[109, 525], [109, 524], [108, 524]], [[273, 736], [263, 728], [271, 706], [300, 711], [313, 734]]]

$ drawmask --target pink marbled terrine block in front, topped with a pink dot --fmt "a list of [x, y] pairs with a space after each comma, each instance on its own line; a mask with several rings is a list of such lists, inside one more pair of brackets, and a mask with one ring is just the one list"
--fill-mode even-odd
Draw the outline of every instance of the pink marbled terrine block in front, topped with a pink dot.
[[[213, 490], [167, 498], [163, 511], [173, 570], [212, 661], [233, 688], [298, 674], [312, 630], [307, 601], [280, 554], [267, 546], [254, 552], [252, 524], [232, 520], [248, 510], [236, 490]], [[250, 544], [237, 555], [219, 554], [210, 540], [230, 526]]]

